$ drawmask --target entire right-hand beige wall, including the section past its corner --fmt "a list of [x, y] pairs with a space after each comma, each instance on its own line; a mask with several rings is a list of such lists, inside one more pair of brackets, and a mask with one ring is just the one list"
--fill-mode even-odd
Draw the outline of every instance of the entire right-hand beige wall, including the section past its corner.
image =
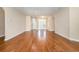
[[55, 32], [79, 41], [79, 7], [62, 8], [55, 14]]

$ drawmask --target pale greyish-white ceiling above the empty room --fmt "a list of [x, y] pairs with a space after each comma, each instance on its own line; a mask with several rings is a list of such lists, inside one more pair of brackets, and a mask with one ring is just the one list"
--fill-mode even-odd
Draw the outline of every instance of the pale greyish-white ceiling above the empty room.
[[16, 7], [18, 11], [28, 16], [52, 16], [59, 9], [59, 7]]

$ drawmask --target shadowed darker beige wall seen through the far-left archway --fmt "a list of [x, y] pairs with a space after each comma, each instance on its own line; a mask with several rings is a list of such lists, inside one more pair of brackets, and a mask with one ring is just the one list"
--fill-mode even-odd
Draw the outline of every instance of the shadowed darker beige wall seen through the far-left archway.
[[0, 37], [5, 36], [5, 13], [0, 7]]

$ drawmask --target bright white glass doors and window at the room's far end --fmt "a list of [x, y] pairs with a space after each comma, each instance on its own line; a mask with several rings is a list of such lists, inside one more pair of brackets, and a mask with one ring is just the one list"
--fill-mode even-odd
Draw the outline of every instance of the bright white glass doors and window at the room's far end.
[[46, 29], [46, 19], [32, 18], [32, 29], [36, 30]]

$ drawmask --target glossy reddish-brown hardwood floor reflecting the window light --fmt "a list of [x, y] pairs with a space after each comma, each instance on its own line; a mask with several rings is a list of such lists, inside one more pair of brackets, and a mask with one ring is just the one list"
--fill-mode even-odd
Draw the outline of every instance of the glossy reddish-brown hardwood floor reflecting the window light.
[[1, 52], [75, 52], [79, 43], [65, 39], [50, 31], [25, 32], [0, 45]]

